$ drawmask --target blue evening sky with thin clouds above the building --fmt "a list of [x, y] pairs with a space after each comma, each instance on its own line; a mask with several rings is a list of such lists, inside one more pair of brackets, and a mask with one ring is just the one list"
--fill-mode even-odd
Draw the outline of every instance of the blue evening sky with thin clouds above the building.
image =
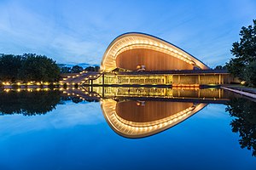
[[95, 65], [113, 38], [139, 31], [214, 67], [230, 59], [241, 26], [256, 19], [255, 8], [255, 0], [0, 0], [0, 53]]

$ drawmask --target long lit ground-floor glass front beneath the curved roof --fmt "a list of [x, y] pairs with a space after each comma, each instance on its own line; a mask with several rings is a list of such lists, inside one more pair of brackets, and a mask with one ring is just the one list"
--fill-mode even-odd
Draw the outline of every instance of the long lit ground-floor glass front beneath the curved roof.
[[106, 85], [200, 85], [200, 84], [223, 84], [228, 76], [221, 74], [209, 75], [120, 75], [113, 73], [105, 73], [104, 75], [93, 80], [93, 84]]

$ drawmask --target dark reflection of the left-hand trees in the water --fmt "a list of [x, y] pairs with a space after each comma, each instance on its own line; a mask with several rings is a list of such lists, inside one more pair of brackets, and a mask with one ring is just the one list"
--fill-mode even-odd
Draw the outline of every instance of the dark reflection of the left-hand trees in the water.
[[[59, 90], [26, 91], [10, 90], [9, 93], [0, 92], [0, 115], [22, 114], [24, 116], [44, 115], [53, 111], [56, 105], [65, 105], [67, 101], [80, 103], [79, 97], [61, 96]], [[87, 100], [86, 100], [87, 101]], [[88, 100], [88, 102], [96, 100]]]

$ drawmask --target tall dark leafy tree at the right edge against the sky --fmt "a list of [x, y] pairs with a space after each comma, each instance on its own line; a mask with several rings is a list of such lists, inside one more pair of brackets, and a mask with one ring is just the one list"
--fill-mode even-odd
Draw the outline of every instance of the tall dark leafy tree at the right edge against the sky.
[[241, 27], [240, 42], [234, 42], [231, 54], [235, 56], [227, 63], [228, 71], [241, 80], [247, 80], [245, 70], [247, 65], [256, 60], [256, 20], [253, 20], [253, 26]]

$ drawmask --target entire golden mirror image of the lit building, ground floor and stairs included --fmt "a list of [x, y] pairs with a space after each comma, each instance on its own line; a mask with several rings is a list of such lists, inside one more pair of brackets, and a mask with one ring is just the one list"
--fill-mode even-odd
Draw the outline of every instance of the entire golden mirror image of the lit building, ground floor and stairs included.
[[113, 131], [126, 138], [143, 138], [183, 122], [210, 103], [225, 104], [221, 88], [67, 89], [67, 96], [100, 100], [102, 113]]

